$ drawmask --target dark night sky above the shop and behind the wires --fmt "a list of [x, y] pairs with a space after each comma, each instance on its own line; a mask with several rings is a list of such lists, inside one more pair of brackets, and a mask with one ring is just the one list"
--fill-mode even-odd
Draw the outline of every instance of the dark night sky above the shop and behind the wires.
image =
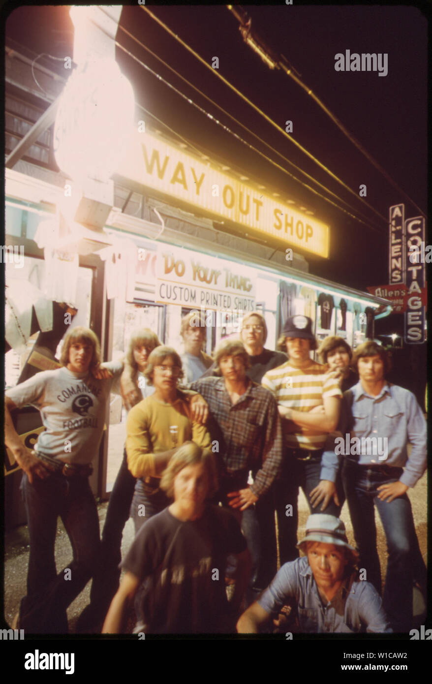
[[[147, 5], [209, 64], [219, 57], [219, 73], [284, 129], [293, 121], [293, 137], [351, 187], [357, 198], [332, 180], [310, 159], [217, 77], [187, 53], [137, 4], [124, 6], [120, 25], [173, 66], [191, 83], [297, 166], [349, 202], [367, 217], [369, 227], [351, 219], [271, 163], [234, 140], [211, 120], [185, 103], [165, 84], [117, 49], [117, 60], [131, 79], [138, 103], [198, 148], [243, 170], [251, 179], [291, 196], [330, 226], [330, 259], [310, 257], [310, 272], [359, 289], [388, 282], [388, 228], [358, 198], [366, 184], [366, 200], [384, 217], [388, 207], [405, 201], [405, 215], [418, 215], [397, 189], [347, 140], [310, 96], [281, 71], [271, 71], [244, 42], [239, 23], [225, 5]], [[427, 212], [427, 19], [415, 7], [367, 5], [242, 5], [252, 30], [275, 53], [285, 55], [301, 79], [321, 98], [392, 179]], [[72, 54], [72, 23], [64, 7], [15, 10], [5, 26], [6, 40], [55, 56]], [[119, 29], [117, 40], [244, 140], [288, 166], [249, 133], [194, 92], [158, 60]], [[338, 72], [336, 53], [387, 53], [388, 75]], [[29, 53], [30, 54], [30, 53]], [[42, 58], [53, 70], [60, 63]], [[151, 118], [143, 118], [163, 130]], [[172, 134], [170, 134], [172, 135]], [[319, 188], [317, 188], [319, 189]], [[319, 189], [319, 192], [323, 192]], [[335, 200], [340, 203], [338, 200]], [[345, 206], [345, 205], [344, 205]], [[372, 227], [373, 226], [373, 227]]]

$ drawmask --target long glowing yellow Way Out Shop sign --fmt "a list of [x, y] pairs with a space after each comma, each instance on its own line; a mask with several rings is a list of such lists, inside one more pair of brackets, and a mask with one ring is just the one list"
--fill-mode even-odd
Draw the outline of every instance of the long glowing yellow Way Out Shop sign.
[[135, 134], [118, 174], [204, 209], [219, 220], [241, 224], [320, 257], [329, 256], [328, 226], [150, 133]]

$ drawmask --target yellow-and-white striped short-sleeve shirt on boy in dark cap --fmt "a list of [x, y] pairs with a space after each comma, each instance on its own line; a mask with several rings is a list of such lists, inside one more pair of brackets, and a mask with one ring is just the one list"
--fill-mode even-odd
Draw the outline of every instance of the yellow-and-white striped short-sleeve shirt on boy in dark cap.
[[[287, 361], [267, 371], [261, 384], [271, 391], [280, 406], [310, 411], [323, 404], [323, 397], [342, 397], [338, 381], [327, 378], [326, 370], [327, 366], [312, 360], [310, 366], [303, 369], [295, 368]], [[301, 428], [296, 432], [284, 432], [285, 444], [291, 449], [323, 449], [327, 436], [327, 432], [305, 435]]]

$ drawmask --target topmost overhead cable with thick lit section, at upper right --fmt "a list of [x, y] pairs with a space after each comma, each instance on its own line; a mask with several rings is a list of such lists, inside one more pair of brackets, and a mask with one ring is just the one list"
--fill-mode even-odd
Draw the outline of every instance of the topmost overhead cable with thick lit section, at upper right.
[[298, 72], [295, 72], [295, 69], [291, 64], [288, 64], [286, 57], [284, 55], [280, 55], [279, 57], [275, 57], [275, 55], [272, 53], [271, 49], [267, 48], [265, 44], [262, 42], [262, 40], [257, 36], [257, 34], [252, 33], [251, 27], [252, 27], [252, 19], [251, 18], [246, 18], [247, 14], [241, 10], [241, 13], [239, 10], [235, 10], [232, 5], [227, 5], [228, 10], [234, 14], [234, 16], [237, 18], [237, 20], [240, 23], [239, 30], [243, 36], [243, 40], [247, 44], [249, 44], [254, 51], [256, 51], [263, 62], [267, 64], [270, 68], [277, 68], [277, 69], [282, 69], [282, 71], [289, 76], [295, 83], [297, 83], [297, 86], [300, 86], [307, 94], [312, 98], [314, 102], [327, 114], [327, 116], [336, 124], [338, 129], [342, 131], [342, 133], [350, 140], [353, 145], [357, 148], [357, 150], [360, 150], [362, 155], [366, 157], [370, 163], [375, 166], [375, 168], [384, 176], [386, 181], [390, 183], [398, 192], [400, 192], [405, 200], [408, 200], [411, 202], [411, 204], [418, 209], [418, 211], [422, 214], [422, 216], [425, 216], [424, 212], [416, 205], [416, 202], [414, 202], [413, 199], [401, 188], [399, 185], [392, 179], [390, 174], [386, 171], [385, 168], [381, 166], [381, 164], [374, 159], [370, 153], [368, 153], [368, 150], [364, 148], [364, 146], [353, 136], [352, 133], [342, 124], [342, 122], [337, 118], [335, 114], [333, 114], [332, 111], [328, 107], [325, 106], [325, 104], [320, 100], [320, 98], [312, 92], [312, 90], [306, 86], [306, 83], [303, 83], [301, 81], [300, 74]]

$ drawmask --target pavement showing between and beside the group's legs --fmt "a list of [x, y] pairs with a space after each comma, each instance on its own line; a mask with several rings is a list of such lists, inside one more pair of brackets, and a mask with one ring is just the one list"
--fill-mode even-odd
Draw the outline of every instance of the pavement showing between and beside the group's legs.
[[[120, 433], [120, 431], [118, 431]], [[118, 436], [120, 442], [120, 436]], [[118, 465], [122, 458], [122, 449], [116, 450], [116, 456]], [[111, 469], [114, 469], [114, 464], [111, 463]], [[118, 466], [117, 466], [118, 468]], [[112, 473], [111, 473], [112, 476]], [[420, 550], [424, 561], [427, 561], [427, 473], [424, 473], [423, 477], [416, 484], [414, 489], [409, 489], [408, 492], [409, 499], [411, 500], [411, 505], [413, 508], [414, 522], [416, 525], [416, 531], [418, 534], [418, 540], [420, 543]], [[105, 516], [107, 514], [108, 503], [98, 504], [98, 515], [100, 522], [100, 530], [103, 528], [103, 523], [105, 521]], [[308, 518], [309, 509], [303, 492], [299, 494], [299, 529], [297, 536], [301, 539], [305, 533], [306, 519]], [[347, 535], [349, 542], [354, 544], [353, 529], [351, 526], [351, 521], [349, 518], [349, 512], [347, 503], [344, 504], [342, 508], [341, 516], [342, 521], [344, 521], [347, 527]], [[379, 553], [379, 560], [381, 562], [381, 574], [383, 577], [386, 576], [387, 568], [387, 547], [386, 547], [386, 537], [383, 532], [381, 521], [375, 510], [375, 520], [377, 523], [377, 548]], [[127, 553], [131, 543], [134, 538], [134, 526], [133, 521], [129, 518], [126, 523], [123, 533], [122, 540], [122, 556]], [[27, 525], [21, 525], [16, 527], [16, 529], [5, 534], [5, 556], [4, 556], [4, 613], [5, 621], [8, 624], [12, 624], [12, 620], [21, 601], [22, 596], [25, 594], [26, 577], [27, 577], [27, 565], [29, 561], [29, 534]], [[55, 560], [57, 563], [57, 570], [62, 568], [67, 568], [72, 557], [72, 549], [70, 547], [70, 542], [68, 535], [63, 527], [62, 521], [58, 521], [57, 527], [57, 537], [55, 540]], [[77, 596], [77, 599], [73, 601], [68, 609], [68, 621], [69, 621], [69, 631], [70, 633], [75, 633], [75, 624], [81, 611], [87, 603], [90, 601], [90, 581], [87, 586]]]

